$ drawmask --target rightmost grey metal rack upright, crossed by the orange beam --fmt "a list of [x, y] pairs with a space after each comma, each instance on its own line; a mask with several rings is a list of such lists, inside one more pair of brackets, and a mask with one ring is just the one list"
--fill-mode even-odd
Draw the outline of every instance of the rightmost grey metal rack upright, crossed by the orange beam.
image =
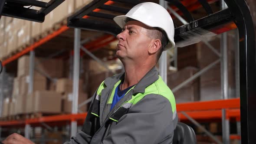
[[[226, 9], [226, 3], [221, 1], [221, 9]], [[227, 67], [227, 33], [222, 33], [220, 38], [220, 73], [222, 98], [228, 98], [228, 67]], [[226, 119], [226, 110], [222, 109], [222, 139], [224, 144], [230, 143], [230, 125]]]

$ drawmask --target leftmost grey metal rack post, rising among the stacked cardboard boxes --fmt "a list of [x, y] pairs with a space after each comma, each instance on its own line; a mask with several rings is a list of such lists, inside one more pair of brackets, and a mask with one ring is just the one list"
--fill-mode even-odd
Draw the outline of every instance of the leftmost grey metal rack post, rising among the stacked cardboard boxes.
[[[29, 67], [30, 75], [29, 75], [29, 88], [28, 88], [28, 93], [29, 94], [33, 92], [34, 68], [35, 68], [35, 52], [30, 51], [30, 67]], [[31, 131], [30, 124], [26, 124], [25, 125], [25, 137], [27, 139], [30, 139], [30, 131]]]

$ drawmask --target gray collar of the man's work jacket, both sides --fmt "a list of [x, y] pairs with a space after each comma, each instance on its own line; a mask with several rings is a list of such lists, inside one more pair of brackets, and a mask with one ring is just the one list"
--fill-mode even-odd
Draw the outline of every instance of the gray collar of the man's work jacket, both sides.
[[[124, 79], [124, 77], [125, 77], [125, 72], [122, 72], [122, 73], [119, 73], [119, 74], [114, 75], [112, 77], [108, 77], [104, 81], [104, 83], [107, 87], [108, 86], [113, 87], [116, 82], [118, 82], [119, 80]], [[151, 85], [152, 83], [157, 81], [158, 78], [159, 78], [158, 70], [155, 67], [153, 67], [150, 71], [148, 71], [148, 73], [146, 75], [144, 75], [144, 77], [135, 86], [135, 88], [133, 89], [133, 94], [135, 94], [135, 93], [144, 93], [145, 88], [148, 87], [148, 85]]]

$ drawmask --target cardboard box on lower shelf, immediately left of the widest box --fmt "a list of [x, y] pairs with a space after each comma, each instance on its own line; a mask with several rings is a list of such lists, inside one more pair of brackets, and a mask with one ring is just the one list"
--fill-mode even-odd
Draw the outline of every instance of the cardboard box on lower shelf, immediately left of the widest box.
[[26, 113], [26, 98], [27, 94], [18, 95], [15, 102], [15, 114], [25, 114]]

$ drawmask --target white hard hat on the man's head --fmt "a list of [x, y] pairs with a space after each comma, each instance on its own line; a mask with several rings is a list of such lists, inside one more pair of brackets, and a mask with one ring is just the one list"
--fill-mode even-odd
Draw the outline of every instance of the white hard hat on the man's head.
[[174, 23], [170, 14], [161, 5], [151, 2], [139, 3], [126, 13], [126, 15], [116, 16], [114, 21], [118, 26], [123, 28], [127, 18], [138, 20], [150, 27], [160, 28], [167, 34], [169, 40], [164, 50], [174, 48]]

